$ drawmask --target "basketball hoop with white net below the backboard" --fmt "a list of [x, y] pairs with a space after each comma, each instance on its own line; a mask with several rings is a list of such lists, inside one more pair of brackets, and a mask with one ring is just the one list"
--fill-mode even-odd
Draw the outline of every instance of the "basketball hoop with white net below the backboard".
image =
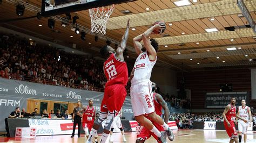
[[91, 32], [106, 34], [106, 23], [110, 15], [114, 10], [114, 4], [109, 5], [107, 8], [102, 6], [101, 8], [92, 8], [89, 9], [91, 17]]

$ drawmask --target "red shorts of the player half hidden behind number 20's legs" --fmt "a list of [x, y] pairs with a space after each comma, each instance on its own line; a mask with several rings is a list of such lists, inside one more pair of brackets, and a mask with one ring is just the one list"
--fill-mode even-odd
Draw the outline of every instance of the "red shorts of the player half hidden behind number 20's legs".
[[[164, 127], [162, 127], [161, 125], [154, 123], [154, 121], [152, 121], [153, 125], [157, 128], [158, 131], [165, 131]], [[139, 140], [147, 140], [151, 137], [151, 135], [154, 137], [154, 139], [156, 139], [158, 141], [158, 137], [156, 134], [154, 134], [153, 132], [147, 130], [144, 126], [140, 126], [138, 134], [137, 134], [137, 139]], [[160, 142], [160, 141], [158, 141]]]

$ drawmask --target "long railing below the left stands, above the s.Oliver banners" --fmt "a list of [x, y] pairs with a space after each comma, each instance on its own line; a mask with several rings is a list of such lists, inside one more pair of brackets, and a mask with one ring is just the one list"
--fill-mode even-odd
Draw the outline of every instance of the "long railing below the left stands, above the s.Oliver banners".
[[2, 75], [0, 73], [0, 77], [8, 78], [11, 80], [19, 80], [19, 81], [27, 81], [27, 82], [33, 82], [33, 83], [39, 83], [39, 84], [55, 85], [55, 86], [66, 87], [66, 88], [75, 88], [75, 89], [82, 89], [82, 90], [104, 92], [104, 88], [97, 88], [97, 87], [92, 87], [89, 85], [88, 85], [88, 87], [86, 87], [86, 85], [83, 85], [83, 84], [68, 83], [66, 85], [67, 82], [65, 82], [63, 85], [58, 85], [58, 83], [56, 81], [49, 80], [48, 78], [43, 78], [42, 81], [41, 80], [38, 81], [38, 78], [35, 76], [19, 75], [17, 77], [16, 74], [8, 74], [8, 76], [6, 76], [6, 75]]

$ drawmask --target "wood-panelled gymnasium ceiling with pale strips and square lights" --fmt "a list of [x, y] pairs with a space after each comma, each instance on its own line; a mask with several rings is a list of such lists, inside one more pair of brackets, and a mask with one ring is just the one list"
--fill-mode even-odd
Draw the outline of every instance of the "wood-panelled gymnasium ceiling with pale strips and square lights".
[[[130, 18], [131, 28], [125, 60], [134, 63], [136, 54], [133, 52], [132, 39], [143, 33], [157, 20], [164, 20], [166, 30], [162, 35], [152, 35], [159, 42], [158, 66], [172, 69], [184, 68], [192, 70], [208, 67], [255, 67], [256, 61], [256, 34], [252, 28], [246, 27], [248, 22], [241, 14], [236, 0], [198, 0], [191, 5], [176, 6], [177, 0], [142, 0], [116, 5], [108, 23], [106, 37], [120, 41], [126, 26], [127, 18]], [[76, 48], [86, 53], [99, 55], [100, 47], [106, 45], [105, 41], [95, 41], [95, 36], [86, 35], [86, 40], [80, 39], [80, 34], [71, 31], [71, 27], [62, 27], [61, 22], [55, 23], [52, 32], [48, 27], [48, 18], [31, 18], [5, 23], [4, 20], [21, 18], [16, 15], [16, 4], [19, 1], [5, 1], [0, 5], [0, 26], [11, 28], [34, 37], [48, 41], [56, 41], [60, 45]], [[41, 8], [41, 1], [23, 1]], [[244, 0], [254, 21], [256, 20], [256, 1]], [[149, 10], [146, 10], [149, 8]], [[36, 16], [38, 11], [25, 9], [22, 17]], [[38, 9], [39, 10], [39, 9]], [[129, 10], [125, 15], [121, 11]], [[71, 13], [72, 17], [75, 13]], [[91, 27], [89, 11], [77, 12], [79, 25]], [[38, 26], [41, 24], [42, 26]], [[225, 30], [225, 27], [234, 27], [235, 31]], [[217, 28], [217, 32], [207, 33], [205, 29]], [[70, 36], [73, 36], [71, 38]], [[90, 43], [90, 44], [89, 44]], [[114, 44], [111, 45], [114, 47]], [[235, 51], [227, 51], [228, 47], [236, 47]], [[239, 49], [238, 49], [239, 48]], [[180, 54], [178, 54], [180, 53]], [[247, 55], [247, 56], [246, 56]], [[217, 59], [217, 56], [219, 59]], [[252, 59], [252, 61], [250, 61]], [[184, 63], [182, 66], [181, 63]], [[198, 64], [199, 63], [199, 64]]]

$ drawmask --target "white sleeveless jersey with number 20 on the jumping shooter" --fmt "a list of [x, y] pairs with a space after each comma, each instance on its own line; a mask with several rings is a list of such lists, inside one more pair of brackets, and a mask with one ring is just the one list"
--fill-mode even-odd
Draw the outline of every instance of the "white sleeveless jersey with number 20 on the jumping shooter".
[[134, 63], [134, 76], [131, 83], [137, 83], [140, 81], [150, 80], [151, 71], [156, 64], [157, 58], [154, 61], [149, 59], [147, 52], [140, 53], [136, 62]]

